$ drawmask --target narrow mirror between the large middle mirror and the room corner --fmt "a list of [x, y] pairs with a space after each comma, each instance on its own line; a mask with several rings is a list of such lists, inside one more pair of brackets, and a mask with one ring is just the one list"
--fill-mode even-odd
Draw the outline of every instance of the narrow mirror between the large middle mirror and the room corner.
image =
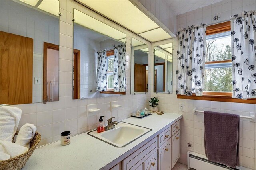
[[148, 92], [148, 45], [131, 38], [131, 94]]

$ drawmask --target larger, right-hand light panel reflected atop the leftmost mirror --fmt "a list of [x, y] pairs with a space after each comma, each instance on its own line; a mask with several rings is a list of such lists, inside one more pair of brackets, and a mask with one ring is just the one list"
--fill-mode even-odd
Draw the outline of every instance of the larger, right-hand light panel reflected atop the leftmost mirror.
[[59, 4], [58, 0], [43, 0], [41, 4], [38, 6], [39, 9], [49, 12], [55, 16], [59, 16]]

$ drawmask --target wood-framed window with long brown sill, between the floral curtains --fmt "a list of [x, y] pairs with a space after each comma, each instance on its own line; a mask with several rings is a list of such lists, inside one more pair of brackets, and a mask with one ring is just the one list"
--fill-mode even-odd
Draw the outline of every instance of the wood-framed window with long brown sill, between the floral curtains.
[[232, 98], [232, 55], [230, 21], [206, 27], [206, 59], [203, 96], [177, 98], [255, 104], [255, 99]]

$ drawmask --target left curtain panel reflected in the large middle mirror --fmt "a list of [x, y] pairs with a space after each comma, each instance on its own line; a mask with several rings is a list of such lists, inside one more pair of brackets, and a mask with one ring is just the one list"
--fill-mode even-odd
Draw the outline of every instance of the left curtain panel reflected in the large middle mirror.
[[98, 67], [97, 67], [97, 91], [107, 91], [107, 55], [106, 50], [98, 51]]

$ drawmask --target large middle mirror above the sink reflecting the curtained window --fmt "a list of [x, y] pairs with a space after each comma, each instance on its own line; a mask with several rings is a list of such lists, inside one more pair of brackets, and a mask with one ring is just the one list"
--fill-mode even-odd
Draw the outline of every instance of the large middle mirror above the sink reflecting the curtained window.
[[126, 34], [74, 9], [73, 98], [125, 94]]

